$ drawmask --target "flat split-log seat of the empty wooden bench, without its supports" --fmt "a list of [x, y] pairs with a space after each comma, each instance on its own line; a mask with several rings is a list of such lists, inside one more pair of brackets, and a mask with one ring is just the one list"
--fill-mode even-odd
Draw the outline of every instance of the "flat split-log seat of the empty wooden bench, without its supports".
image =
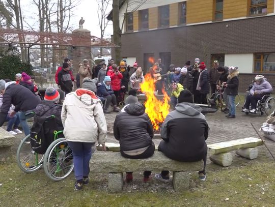
[[248, 137], [248, 138], [236, 139], [232, 141], [209, 144], [208, 153], [210, 155], [217, 155], [220, 153], [227, 153], [230, 151], [256, 147], [259, 145], [263, 145], [263, 141], [261, 139]]

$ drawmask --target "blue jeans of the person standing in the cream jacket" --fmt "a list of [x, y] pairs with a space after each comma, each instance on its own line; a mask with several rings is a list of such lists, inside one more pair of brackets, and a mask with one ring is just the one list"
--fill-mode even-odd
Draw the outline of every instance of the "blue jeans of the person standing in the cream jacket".
[[82, 180], [84, 176], [89, 175], [90, 172], [90, 159], [96, 150], [95, 143], [93, 142], [76, 142], [68, 141], [69, 146], [73, 153], [74, 176], [75, 179]]

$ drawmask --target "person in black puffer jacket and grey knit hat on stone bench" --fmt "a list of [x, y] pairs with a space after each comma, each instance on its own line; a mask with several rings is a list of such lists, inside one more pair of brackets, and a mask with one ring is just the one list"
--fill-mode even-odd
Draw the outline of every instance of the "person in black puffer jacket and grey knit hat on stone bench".
[[[127, 105], [124, 112], [116, 116], [114, 135], [119, 140], [120, 153], [125, 158], [145, 159], [155, 152], [153, 126], [141, 103]], [[149, 180], [150, 175], [151, 171], [144, 171], [144, 182]], [[127, 172], [126, 182], [132, 179], [132, 172]]]

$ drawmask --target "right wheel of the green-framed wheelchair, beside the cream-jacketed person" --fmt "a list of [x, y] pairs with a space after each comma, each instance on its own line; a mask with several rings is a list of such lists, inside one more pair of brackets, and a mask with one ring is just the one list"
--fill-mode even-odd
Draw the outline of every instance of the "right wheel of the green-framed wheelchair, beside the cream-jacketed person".
[[49, 179], [61, 181], [73, 170], [73, 155], [65, 138], [53, 141], [44, 156], [44, 171]]

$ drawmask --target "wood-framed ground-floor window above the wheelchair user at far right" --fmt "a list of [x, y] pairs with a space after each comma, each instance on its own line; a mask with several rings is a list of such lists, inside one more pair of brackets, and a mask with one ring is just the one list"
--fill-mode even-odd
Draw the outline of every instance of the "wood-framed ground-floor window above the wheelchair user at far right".
[[254, 54], [254, 72], [275, 72], [275, 52]]

